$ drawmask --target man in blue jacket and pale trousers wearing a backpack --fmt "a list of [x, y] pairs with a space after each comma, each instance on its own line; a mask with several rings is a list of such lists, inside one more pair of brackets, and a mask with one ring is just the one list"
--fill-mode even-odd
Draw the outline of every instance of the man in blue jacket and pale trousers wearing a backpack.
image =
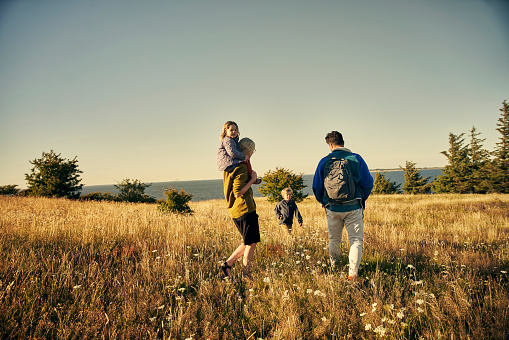
[[331, 153], [318, 163], [313, 193], [327, 214], [331, 265], [339, 265], [344, 227], [350, 241], [348, 279], [355, 281], [362, 259], [364, 208], [373, 189], [373, 177], [362, 157], [344, 147], [341, 133], [328, 133], [325, 142]]

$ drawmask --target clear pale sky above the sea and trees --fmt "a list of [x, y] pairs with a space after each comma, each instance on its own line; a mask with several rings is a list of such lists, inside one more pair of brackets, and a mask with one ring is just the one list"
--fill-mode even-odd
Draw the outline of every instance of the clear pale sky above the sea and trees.
[[444, 166], [509, 99], [507, 1], [3, 0], [0, 185], [78, 158], [85, 185], [222, 178], [227, 120], [253, 168], [311, 174], [325, 134], [371, 169]]

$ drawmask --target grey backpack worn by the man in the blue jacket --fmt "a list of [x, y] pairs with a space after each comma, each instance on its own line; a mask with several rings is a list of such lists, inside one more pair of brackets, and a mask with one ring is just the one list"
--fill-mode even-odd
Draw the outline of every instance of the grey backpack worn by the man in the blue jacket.
[[324, 167], [324, 188], [331, 203], [348, 203], [355, 200], [355, 182], [348, 159], [327, 156]]

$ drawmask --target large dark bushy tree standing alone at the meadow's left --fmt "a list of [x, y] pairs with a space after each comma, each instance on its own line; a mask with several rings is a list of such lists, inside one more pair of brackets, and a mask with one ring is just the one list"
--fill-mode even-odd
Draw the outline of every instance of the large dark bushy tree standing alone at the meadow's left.
[[31, 196], [78, 198], [83, 184], [79, 174], [78, 160], [66, 160], [51, 152], [43, 152], [42, 158], [30, 161], [34, 166], [25, 174], [28, 194]]

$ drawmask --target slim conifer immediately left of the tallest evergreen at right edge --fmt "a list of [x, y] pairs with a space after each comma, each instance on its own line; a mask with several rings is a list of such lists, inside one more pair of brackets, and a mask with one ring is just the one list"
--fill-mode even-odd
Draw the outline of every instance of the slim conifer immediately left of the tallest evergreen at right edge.
[[468, 147], [469, 174], [467, 176], [466, 191], [475, 194], [485, 194], [488, 191], [488, 164], [489, 152], [483, 149], [482, 143], [485, 138], [480, 139], [479, 132], [473, 126], [470, 130], [470, 145]]

